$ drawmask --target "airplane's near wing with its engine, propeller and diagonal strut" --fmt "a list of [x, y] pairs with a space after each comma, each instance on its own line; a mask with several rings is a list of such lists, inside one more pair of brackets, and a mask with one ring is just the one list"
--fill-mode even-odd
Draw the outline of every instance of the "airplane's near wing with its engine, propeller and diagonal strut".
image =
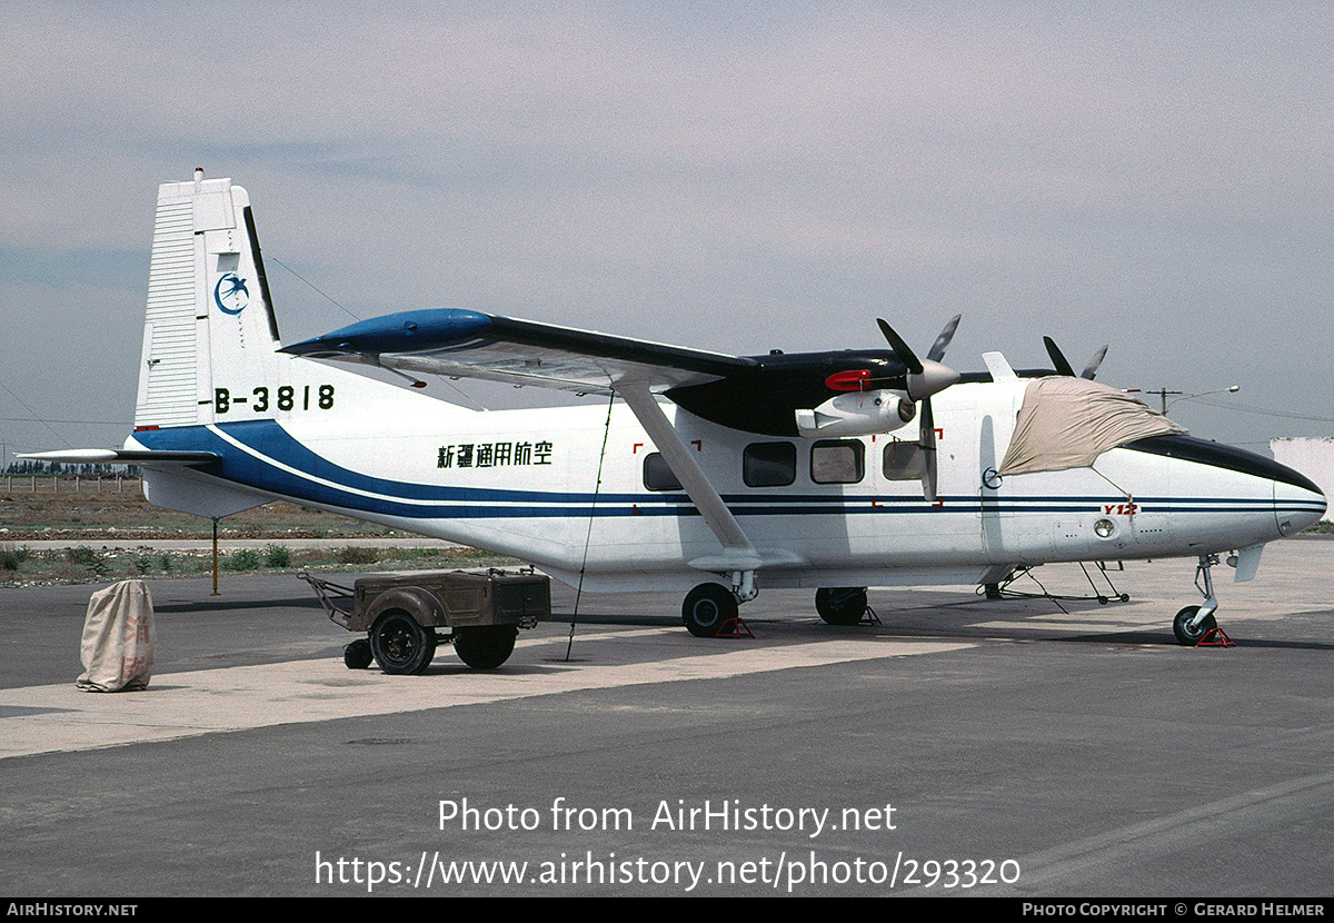
[[[662, 343], [631, 340], [531, 320], [459, 308], [408, 311], [364, 320], [281, 352], [340, 359], [412, 373], [536, 384], [620, 396], [667, 456], [675, 475], [726, 548], [748, 543], [732, 523], [694, 460], [676, 445], [656, 407], [663, 395], [683, 409], [730, 428], [771, 436], [855, 436], [890, 432], [918, 415], [926, 453], [923, 494], [935, 500], [935, 429], [931, 395], [959, 380], [942, 365], [959, 319], [954, 317], [922, 360], [883, 320], [891, 349], [767, 356], [727, 356]], [[679, 452], [676, 449], [680, 449]], [[716, 516], [715, 516], [716, 514]], [[716, 522], [715, 522], [716, 520]]]

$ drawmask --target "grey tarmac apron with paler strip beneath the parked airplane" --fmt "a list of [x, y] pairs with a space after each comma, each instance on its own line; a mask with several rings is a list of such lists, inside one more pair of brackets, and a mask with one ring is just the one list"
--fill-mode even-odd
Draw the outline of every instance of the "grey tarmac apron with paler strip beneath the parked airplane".
[[96, 587], [0, 590], [0, 870], [24, 898], [1329, 898], [1331, 566], [1298, 539], [1218, 568], [1237, 646], [1207, 650], [1170, 628], [1190, 560], [1111, 574], [1129, 603], [872, 591], [852, 628], [762, 591], [754, 639], [618, 594], [571, 640], [554, 586], [502, 668], [420, 676], [348, 671], [291, 575], [155, 580], [127, 694], [73, 687]]

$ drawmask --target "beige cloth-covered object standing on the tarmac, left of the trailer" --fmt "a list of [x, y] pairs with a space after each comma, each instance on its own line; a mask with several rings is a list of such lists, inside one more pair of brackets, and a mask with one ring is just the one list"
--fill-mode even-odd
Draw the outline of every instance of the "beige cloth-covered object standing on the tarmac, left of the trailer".
[[121, 580], [88, 600], [84, 619], [85, 692], [143, 690], [153, 674], [153, 598], [143, 580]]

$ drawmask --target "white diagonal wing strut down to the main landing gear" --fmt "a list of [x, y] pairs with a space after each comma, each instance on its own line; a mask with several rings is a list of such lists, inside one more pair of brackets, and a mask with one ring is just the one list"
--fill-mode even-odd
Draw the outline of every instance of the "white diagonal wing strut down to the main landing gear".
[[690, 448], [682, 441], [676, 428], [658, 405], [648, 385], [622, 381], [614, 387], [639, 420], [639, 425], [654, 440], [654, 445], [667, 459], [668, 467], [676, 475], [686, 494], [690, 495], [699, 515], [703, 516], [704, 523], [723, 546], [720, 556], [692, 560], [690, 562], [691, 567], [731, 572], [732, 591], [736, 592], [738, 598], [742, 600], [754, 599], [758, 592], [755, 570], [763, 562], [759, 552], [755, 551], [755, 546], [746, 538], [736, 518], [732, 516], [732, 511], [727, 508], [708, 476], [691, 456]]

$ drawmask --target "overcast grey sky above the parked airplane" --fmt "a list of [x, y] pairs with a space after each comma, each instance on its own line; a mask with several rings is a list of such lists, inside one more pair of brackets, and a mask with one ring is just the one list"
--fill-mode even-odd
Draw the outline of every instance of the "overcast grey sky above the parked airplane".
[[287, 341], [451, 305], [924, 352], [962, 313], [963, 371], [1106, 343], [1117, 387], [1241, 385], [1197, 435], [1334, 435], [1334, 5], [1161, 5], [5, 4], [0, 441], [123, 441], [196, 165]]

